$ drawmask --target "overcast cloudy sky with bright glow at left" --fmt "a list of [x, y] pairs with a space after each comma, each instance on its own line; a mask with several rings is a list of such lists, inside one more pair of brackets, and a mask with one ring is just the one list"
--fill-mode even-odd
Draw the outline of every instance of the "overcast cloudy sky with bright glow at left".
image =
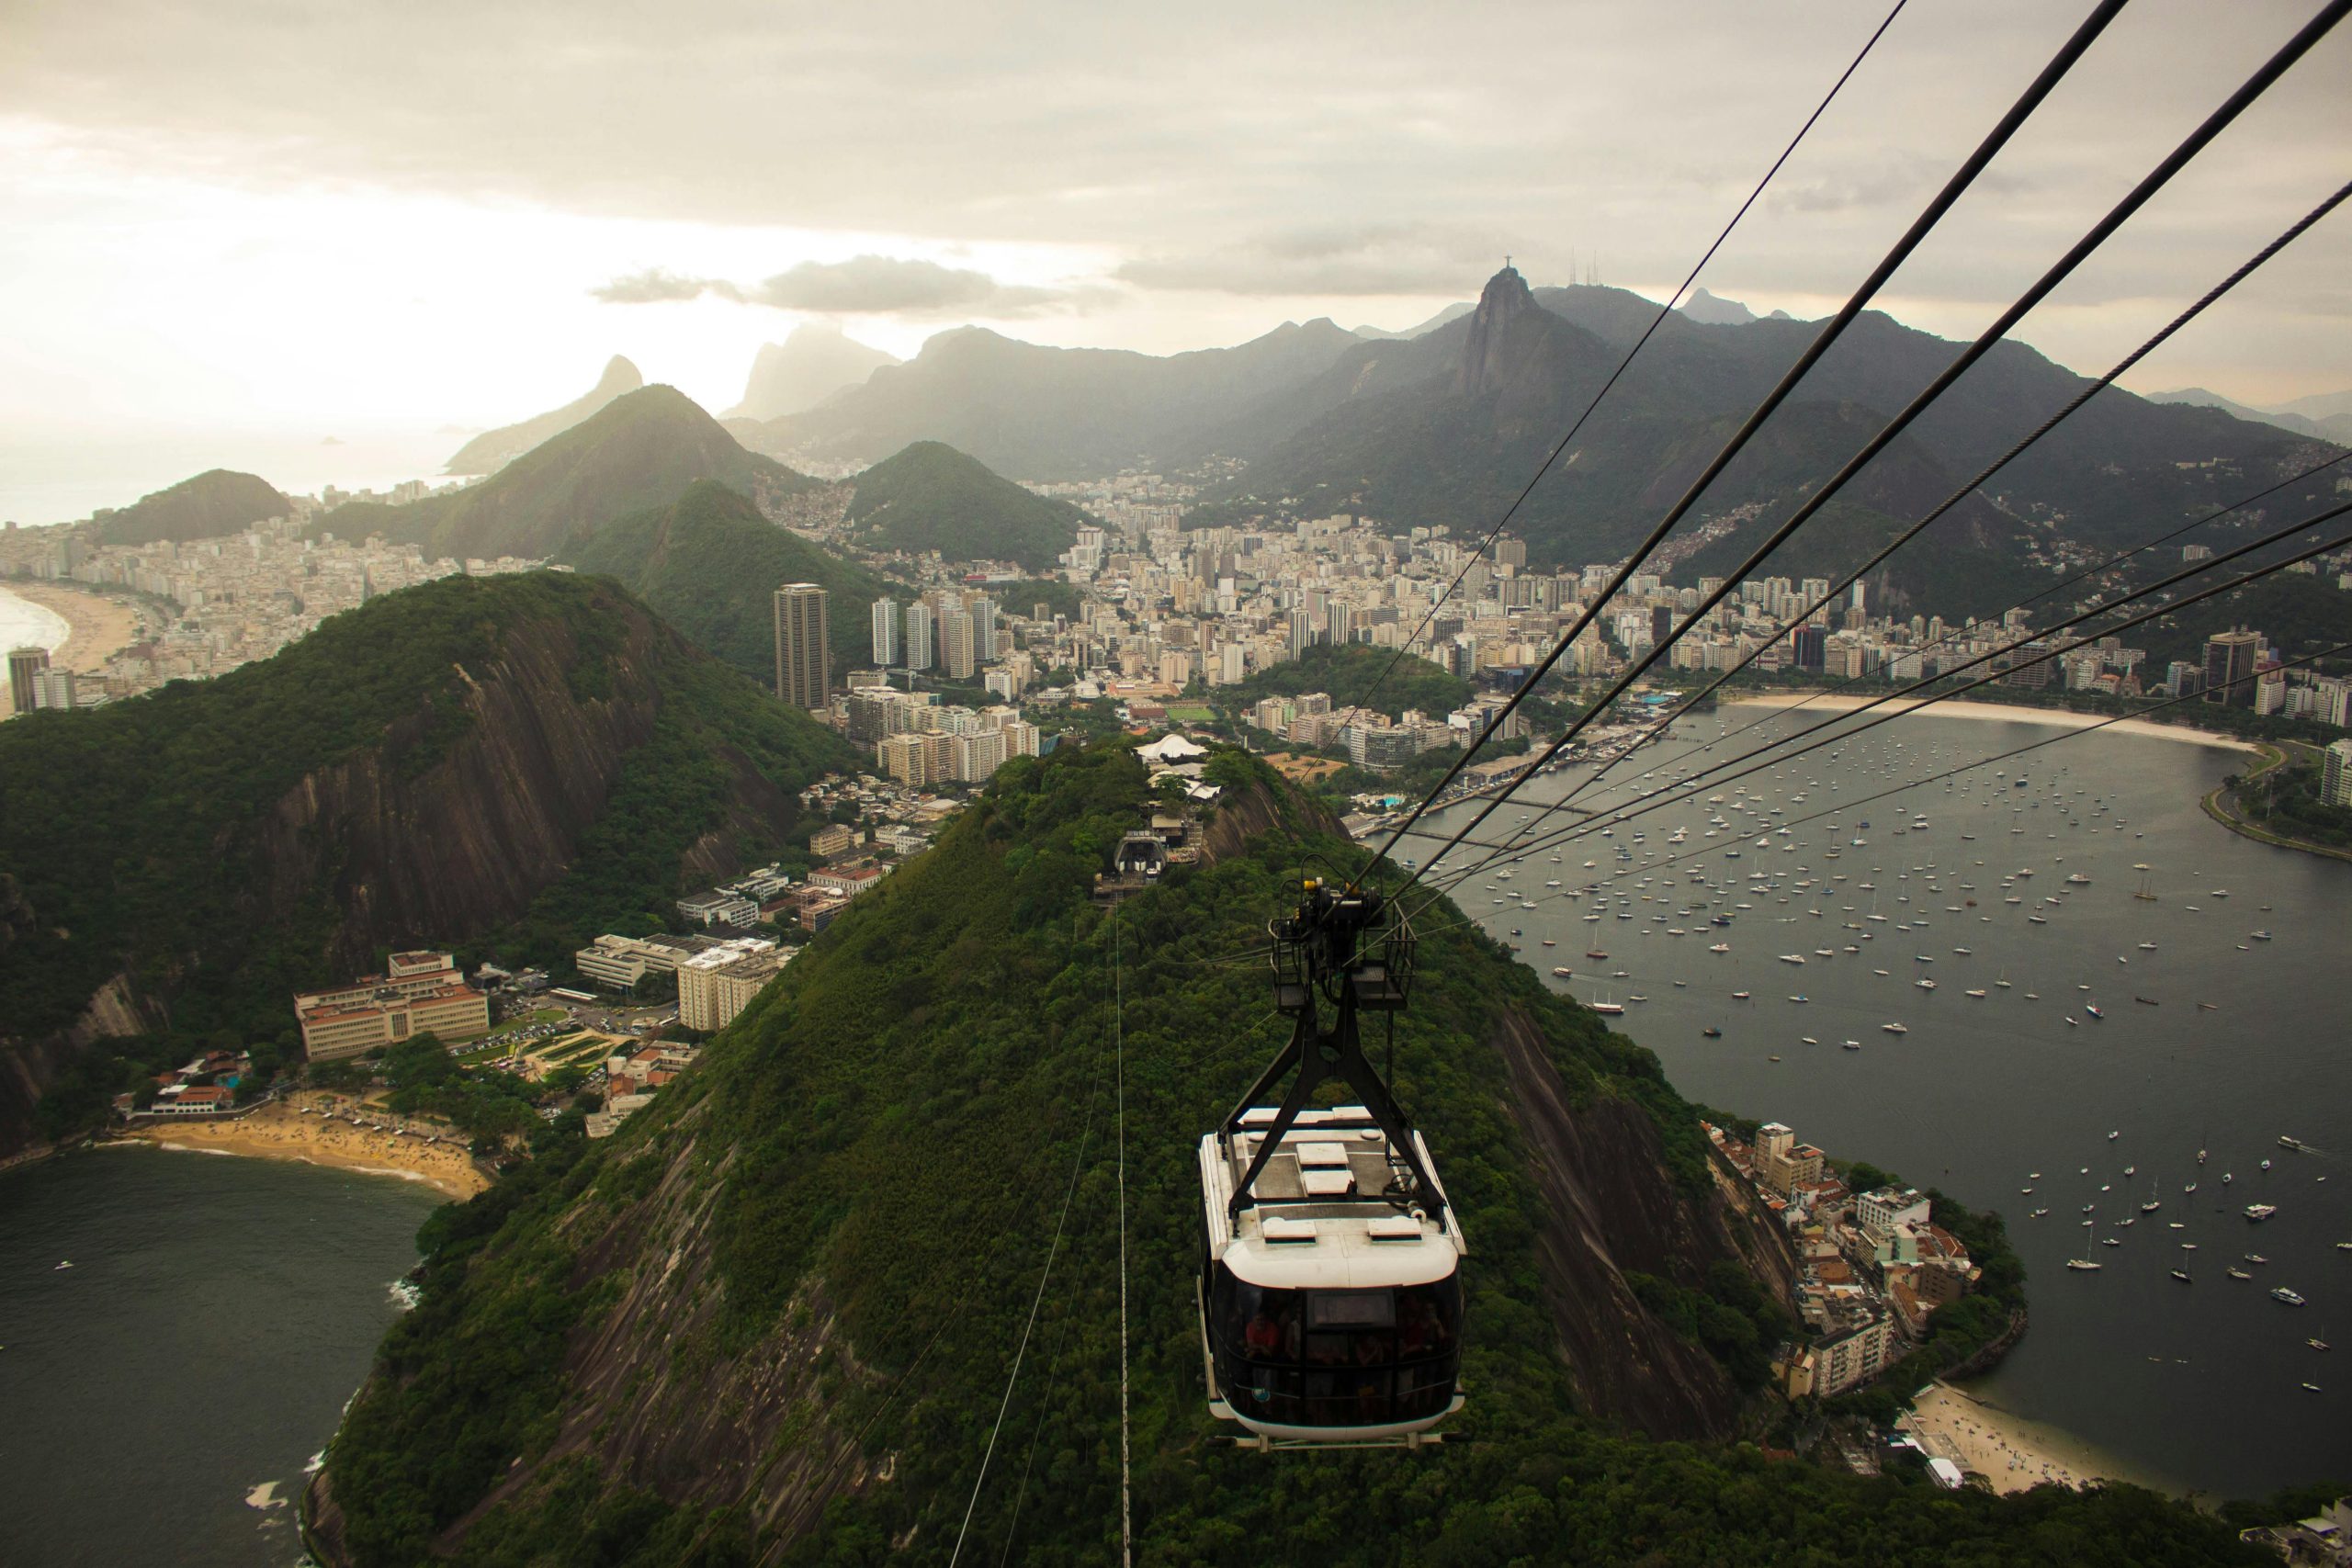
[[[1891, 0], [1886, 0], [1891, 2]], [[485, 425], [800, 320], [1171, 353], [1670, 289], [1886, 2], [0, 0], [0, 421]], [[2138, 0], [1893, 282], [1971, 336], [2317, 0]], [[1912, 0], [1703, 277], [1830, 310], [2086, 0]], [[2020, 331], [2100, 371], [2352, 176], [2352, 28]], [[2131, 378], [2352, 386], [2352, 214]]]

